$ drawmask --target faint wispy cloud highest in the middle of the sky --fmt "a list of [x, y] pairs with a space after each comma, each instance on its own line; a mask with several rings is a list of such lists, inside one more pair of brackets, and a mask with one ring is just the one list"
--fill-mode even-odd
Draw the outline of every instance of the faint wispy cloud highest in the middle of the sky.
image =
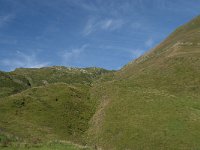
[[89, 35], [96, 31], [114, 31], [120, 29], [125, 24], [125, 21], [122, 19], [97, 19], [91, 18], [86, 23], [84, 27], [83, 34]]

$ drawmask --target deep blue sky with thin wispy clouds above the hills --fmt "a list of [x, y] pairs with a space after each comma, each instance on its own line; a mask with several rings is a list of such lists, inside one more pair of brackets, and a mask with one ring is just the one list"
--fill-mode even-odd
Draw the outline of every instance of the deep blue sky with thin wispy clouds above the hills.
[[120, 69], [200, 14], [200, 0], [0, 0], [0, 70]]

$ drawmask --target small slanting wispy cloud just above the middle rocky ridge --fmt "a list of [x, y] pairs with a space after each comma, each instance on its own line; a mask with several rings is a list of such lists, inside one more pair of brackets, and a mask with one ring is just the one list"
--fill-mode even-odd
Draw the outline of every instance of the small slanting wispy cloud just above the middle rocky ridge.
[[84, 44], [83, 46], [79, 48], [69, 49], [65, 50], [62, 54], [62, 60], [64, 64], [68, 64], [70, 61], [75, 61], [79, 59], [81, 54], [84, 52], [84, 50], [88, 47], [87, 44]]

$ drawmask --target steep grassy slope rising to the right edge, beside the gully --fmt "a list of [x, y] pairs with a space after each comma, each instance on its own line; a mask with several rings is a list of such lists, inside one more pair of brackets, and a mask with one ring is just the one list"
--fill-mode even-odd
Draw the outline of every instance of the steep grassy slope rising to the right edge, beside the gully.
[[103, 149], [200, 149], [200, 17], [180, 27], [115, 80], [96, 86], [102, 101], [91, 143]]

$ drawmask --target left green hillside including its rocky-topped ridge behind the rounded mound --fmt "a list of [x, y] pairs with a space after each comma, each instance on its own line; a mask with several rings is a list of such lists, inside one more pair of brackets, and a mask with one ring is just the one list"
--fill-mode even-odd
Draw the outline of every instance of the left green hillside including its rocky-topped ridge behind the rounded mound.
[[1, 91], [0, 136], [8, 139], [7, 145], [34, 146], [49, 141], [85, 144], [84, 134], [98, 105], [90, 98], [92, 83], [110, 72], [58, 66], [2, 72], [2, 89], [13, 88], [15, 92]]

